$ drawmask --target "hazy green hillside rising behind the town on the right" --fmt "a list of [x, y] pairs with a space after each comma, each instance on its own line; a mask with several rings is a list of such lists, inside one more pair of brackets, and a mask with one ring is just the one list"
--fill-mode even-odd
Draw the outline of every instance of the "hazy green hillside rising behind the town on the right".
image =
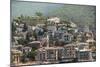
[[49, 16], [59, 16], [66, 20], [71, 20], [78, 25], [92, 25], [96, 23], [96, 7], [88, 5], [63, 5], [52, 10]]

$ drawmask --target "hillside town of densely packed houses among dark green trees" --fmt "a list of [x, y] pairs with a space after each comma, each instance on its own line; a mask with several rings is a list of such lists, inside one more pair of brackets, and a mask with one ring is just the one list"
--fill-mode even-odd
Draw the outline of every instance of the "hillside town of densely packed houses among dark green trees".
[[57, 16], [36, 18], [12, 20], [11, 66], [96, 61], [96, 32]]

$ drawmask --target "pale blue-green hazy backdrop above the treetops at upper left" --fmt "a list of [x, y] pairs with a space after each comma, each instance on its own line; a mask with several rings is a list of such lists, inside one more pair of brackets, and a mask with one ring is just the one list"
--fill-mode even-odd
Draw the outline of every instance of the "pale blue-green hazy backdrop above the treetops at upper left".
[[54, 3], [41, 3], [33, 1], [17, 1], [12, 0], [11, 3], [11, 16], [16, 17], [21, 14], [24, 16], [34, 16], [36, 12], [41, 12], [47, 15], [49, 11], [61, 7], [60, 4]]

